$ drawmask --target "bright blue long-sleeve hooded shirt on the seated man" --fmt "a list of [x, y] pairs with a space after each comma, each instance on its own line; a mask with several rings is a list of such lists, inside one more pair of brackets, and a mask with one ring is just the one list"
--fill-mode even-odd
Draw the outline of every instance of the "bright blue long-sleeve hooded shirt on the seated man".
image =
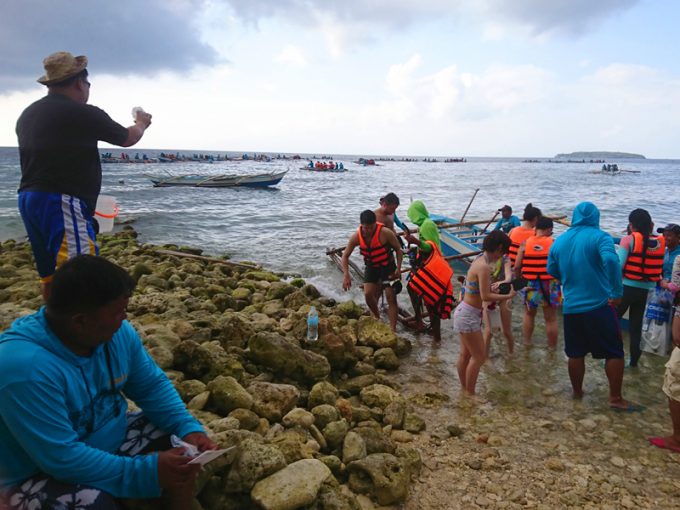
[[120, 392], [168, 433], [204, 429], [127, 321], [108, 348], [115, 392], [104, 347], [77, 356], [50, 330], [44, 308], [0, 336], [0, 488], [42, 472], [116, 497], [160, 495], [157, 455], [115, 454], [126, 441]]

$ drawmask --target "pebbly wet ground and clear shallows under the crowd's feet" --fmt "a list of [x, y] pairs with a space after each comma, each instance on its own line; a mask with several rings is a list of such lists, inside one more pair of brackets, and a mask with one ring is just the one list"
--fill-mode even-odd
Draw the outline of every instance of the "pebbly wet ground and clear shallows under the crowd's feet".
[[440, 347], [416, 337], [392, 376], [428, 426], [414, 440], [423, 470], [403, 508], [678, 508], [680, 454], [647, 441], [670, 432], [665, 359], [643, 354], [640, 368], [625, 371], [624, 397], [646, 406], [642, 412], [609, 409], [604, 368], [592, 359], [585, 396], [574, 400], [561, 327], [550, 350], [537, 318], [526, 348], [520, 311], [516, 303], [514, 356], [495, 335], [477, 384], [481, 402], [461, 396], [451, 321]]

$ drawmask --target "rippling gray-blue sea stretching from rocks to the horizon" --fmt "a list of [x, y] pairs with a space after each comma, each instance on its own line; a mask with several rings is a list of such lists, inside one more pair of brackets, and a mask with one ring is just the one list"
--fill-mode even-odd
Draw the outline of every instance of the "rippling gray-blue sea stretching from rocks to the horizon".
[[[352, 163], [357, 156], [333, 157], [349, 171], [300, 170], [305, 160], [105, 164], [101, 192], [116, 198], [121, 218], [134, 219], [143, 242], [191, 245], [209, 255], [228, 253], [234, 260], [256, 261], [300, 274], [336, 298], [348, 296], [326, 249], [343, 246], [358, 226], [359, 213], [378, 207], [379, 198], [390, 191], [401, 199], [397, 214], [404, 220], [411, 200], [423, 200], [430, 212], [460, 217], [479, 189], [467, 219], [491, 218], [504, 204], [521, 217], [528, 202], [545, 213], [570, 217], [578, 202], [590, 200], [600, 208], [602, 228], [612, 233], [625, 229], [628, 213], [636, 207], [648, 209], [658, 225], [680, 222], [677, 160], [620, 160], [620, 168], [640, 173], [603, 175], [592, 173], [600, 164], [525, 163], [523, 158], [379, 161], [379, 166], [363, 167]], [[285, 169], [288, 174], [272, 189], [154, 188], [149, 180], [168, 172], [216, 175]], [[0, 239], [25, 237], [16, 208], [20, 175], [17, 149], [0, 148]], [[360, 299], [356, 289], [349, 296]]]

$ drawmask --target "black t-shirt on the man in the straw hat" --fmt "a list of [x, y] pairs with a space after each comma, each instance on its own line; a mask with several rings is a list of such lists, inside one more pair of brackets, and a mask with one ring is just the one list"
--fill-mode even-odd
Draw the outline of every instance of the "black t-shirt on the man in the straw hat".
[[62, 94], [36, 101], [17, 121], [21, 184], [19, 191], [50, 191], [76, 196], [94, 213], [102, 167], [97, 142], [122, 145], [127, 128], [96, 106]]

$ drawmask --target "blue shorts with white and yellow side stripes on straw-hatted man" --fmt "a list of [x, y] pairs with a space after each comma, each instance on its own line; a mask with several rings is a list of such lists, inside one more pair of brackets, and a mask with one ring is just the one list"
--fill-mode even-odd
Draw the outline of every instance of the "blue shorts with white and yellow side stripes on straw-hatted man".
[[19, 192], [19, 212], [43, 282], [76, 255], [99, 255], [93, 213], [77, 197], [47, 191]]

